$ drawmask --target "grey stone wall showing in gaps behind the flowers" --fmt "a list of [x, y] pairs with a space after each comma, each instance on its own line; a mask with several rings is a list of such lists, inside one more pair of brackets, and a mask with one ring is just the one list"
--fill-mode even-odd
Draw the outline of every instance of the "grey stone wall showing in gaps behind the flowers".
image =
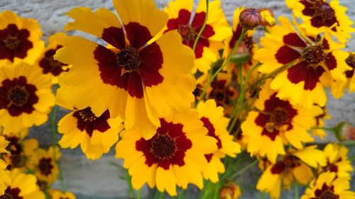
[[[197, 2], [197, 0], [194, 1]], [[343, 6], [347, 6], [347, 14], [352, 21], [355, 21], [355, 0], [339, 1]], [[168, 4], [168, 0], [155, 0], [155, 2], [160, 8]], [[111, 0], [0, 0], [0, 11], [15, 11], [21, 17], [35, 18], [42, 26], [43, 39], [45, 40], [48, 35], [62, 31], [64, 25], [70, 21], [70, 18], [65, 16], [65, 12], [77, 6], [87, 6], [94, 10], [99, 7], [114, 10]], [[234, 9], [238, 6], [271, 8], [275, 16], [283, 15], [289, 18], [291, 16], [291, 11], [285, 6], [283, 0], [222, 0], [222, 8], [230, 22]], [[354, 36], [355, 34], [353, 34]], [[349, 42], [347, 50], [355, 51], [354, 38]], [[355, 126], [355, 93], [346, 94], [339, 101], [330, 95], [328, 97], [327, 107], [332, 119], [327, 121], [327, 126], [333, 127], [341, 121], [346, 121], [346, 123]], [[60, 110], [57, 120], [65, 113], [65, 110]], [[50, 145], [50, 123], [40, 128], [33, 128], [31, 135], [38, 138], [41, 145]], [[334, 140], [334, 137], [327, 137], [327, 140]], [[82, 155], [80, 149], [63, 149], [62, 152], [61, 167], [65, 185], [70, 191], [77, 194], [78, 199], [125, 198], [127, 186], [120, 179], [120, 176], [124, 176], [125, 173], [117, 166], [114, 166], [114, 164], [121, 163], [121, 161], [114, 159], [113, 151], [104, 155], [98, 161], [89, 161]], [[352, 154], [354, 155], [354, 149]], [[253, 183], [256, 182], [256, 176], [259, 176], [259, 173], [260, 171], [256, 170], [251, 171], [250, 174], [243, 174], [240, 181], [246, 181], [244, 182], [246, 187], [255, 187]], [[56, 183], [55, 186], [60, 188], [60, 183]], [[293, 195], [288, 193], [283, 195], [283, 198], [293, 197]], [[244, 193], [243, 198], [259, 198], [259, 196], [254, 193]]]

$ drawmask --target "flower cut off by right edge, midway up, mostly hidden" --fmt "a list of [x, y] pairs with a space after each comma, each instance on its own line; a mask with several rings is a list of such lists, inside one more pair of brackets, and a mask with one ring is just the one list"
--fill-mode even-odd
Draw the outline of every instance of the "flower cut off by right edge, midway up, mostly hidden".
[[345, 59], [346, 64], [351, 67], [350, 70], [345, 72], [346, 81], [332, 81], [332, 95], [339, 99], [343, 96], [344, 91], [349, 87], [349, 93], [355, 92], [355, 52], [349, 52], [349, 56]]

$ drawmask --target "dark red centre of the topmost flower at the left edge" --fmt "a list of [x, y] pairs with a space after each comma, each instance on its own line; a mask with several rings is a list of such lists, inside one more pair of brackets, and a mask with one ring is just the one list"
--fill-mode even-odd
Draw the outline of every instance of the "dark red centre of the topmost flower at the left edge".
[[33, 43], [28, 40], [30, 32], [26, 29], [18, 30], [15, 24], [9, 24], [0, 30], [0, 59], [9, 59], [13, 62], [15, 57], [23, 59]]

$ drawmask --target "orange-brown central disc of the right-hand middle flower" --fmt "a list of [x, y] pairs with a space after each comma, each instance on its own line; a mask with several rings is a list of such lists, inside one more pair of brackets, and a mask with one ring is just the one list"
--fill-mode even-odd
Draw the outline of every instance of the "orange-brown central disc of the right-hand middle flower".
[[273, 132], [278, 130], [282, 125], [289, 123], [290, 117], [285, 108], [277, 107], [269, 115], [268, 123], [266, 123], [266, 130]]

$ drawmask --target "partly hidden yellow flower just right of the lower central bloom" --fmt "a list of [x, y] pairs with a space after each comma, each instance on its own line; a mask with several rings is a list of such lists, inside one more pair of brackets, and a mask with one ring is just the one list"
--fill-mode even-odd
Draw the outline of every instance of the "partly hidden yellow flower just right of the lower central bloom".
[[219, 180], [218, 173], [224, 173], [224, 164], [221, 159], [226, 155], [236, 157], [241, 152], [241, 147], [234, 142], [233, 135], [226, 130], [229, 119], [224, 117], [223, 108], [217, 106], [214, 100], [200, 102], [197, 106], [198, 118], [207, 128], [207, 135], [217, 140], [217, 150], [211, 154], [205, 154], [207, 166], [203, 170], [203, 176], [212, 182]]

